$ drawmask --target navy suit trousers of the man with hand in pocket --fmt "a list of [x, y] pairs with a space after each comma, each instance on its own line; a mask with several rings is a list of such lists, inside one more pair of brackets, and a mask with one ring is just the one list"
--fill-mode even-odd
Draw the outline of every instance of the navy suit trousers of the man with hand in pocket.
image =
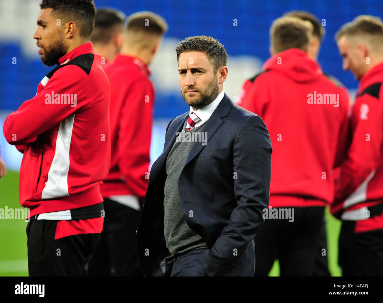
[[[206, 276], [200, 258], [206, 251], [206, 248], [195, 249], [178, 254], [172, 268], [172, 277], [203, 277]], [[236, 266], [230, 270], [226, 277], [254, 277], [255, 254], [254, 240], [249, 243], [246, 251], [242, 254]]]

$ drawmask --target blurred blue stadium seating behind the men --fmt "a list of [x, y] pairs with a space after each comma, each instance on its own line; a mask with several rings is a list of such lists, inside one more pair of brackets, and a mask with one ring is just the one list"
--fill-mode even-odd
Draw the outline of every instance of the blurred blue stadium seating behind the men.
[[[187, 36], [208, 35], [223, 43], [229, 55], [255, 55], [262, 60], [269, 57], [269, 28], [272, 21], [290, 10], [307, 10], [326, 19], [326, 36], [319, 54], [323, 70], [331, 73], [348, 88], [356, 88], [357, 82], [350, 72], [342, 71], [334, 34], [339, 27], [355, 16], [368, 14], [379, 16], [383, 1], [334, 0], [318, 1], [107, 1], [95, 0], [96, 7], [116, 7], [126, 15], [140, 10], [150, 10], [167, 20], [166, 36], [183, 39]], [[37, 18], [37, 16], [36, 16]], [[233, 26], [237, 19], [237, 26]], [[35, 26], [35, 24], [31, 24]], [[27, 59], [17, 43], [0, 42], [0, 109], [16, 110], [20, 104], [36, 93], [43, 76], [52, 68], [45, 67], [38, 57]], [[17, 66], [11, 58], [17, 58]], [[229, 66], [230, 67], [230, 66]], [[157, 95], [155, 118], [174, 117], [187, 110], [180, 94]]]

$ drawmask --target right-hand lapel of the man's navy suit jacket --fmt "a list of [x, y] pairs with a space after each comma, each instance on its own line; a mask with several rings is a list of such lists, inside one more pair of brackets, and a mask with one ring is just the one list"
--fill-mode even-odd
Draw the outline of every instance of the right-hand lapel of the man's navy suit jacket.
[[[213, 114], [211, 114], [209, 120], [206, 121], [205, 127], [203, 127], [203, 129], [201, 130], [202, 132], [206, 132], [207, 142], [209, 142], [210, 138], [216, 132], [218, 127], [221, 126], [221, 124], [223, 123], [223, 120], [221, 118], [226, 117], [228, 115], [232, 106], [233, 106], [233, 102], [230, 100], [230, 98], [226, 94], [224, 94], [222, 101], [218, 104]], [[185, 167], [191, 160], [193, 160], [195, 156], [198, 155], [198, 153], [200, 153], [200, 151], [205, 146], [206, 145], [202, 145], [201, 142], [195, 142], [193, 144], [193, 147], [190, 150], [190, 153], [183, 167]]]

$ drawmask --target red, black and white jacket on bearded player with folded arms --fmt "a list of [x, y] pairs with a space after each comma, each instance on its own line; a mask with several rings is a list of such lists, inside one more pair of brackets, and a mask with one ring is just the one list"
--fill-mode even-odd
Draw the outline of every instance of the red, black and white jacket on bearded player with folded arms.
[[103, 201], [109, 98], [108, 78], [89, 42], [61, 57], [36, 96], [5, 119], [5, 138], [24, 153], [19, 194], [31, 216]]

